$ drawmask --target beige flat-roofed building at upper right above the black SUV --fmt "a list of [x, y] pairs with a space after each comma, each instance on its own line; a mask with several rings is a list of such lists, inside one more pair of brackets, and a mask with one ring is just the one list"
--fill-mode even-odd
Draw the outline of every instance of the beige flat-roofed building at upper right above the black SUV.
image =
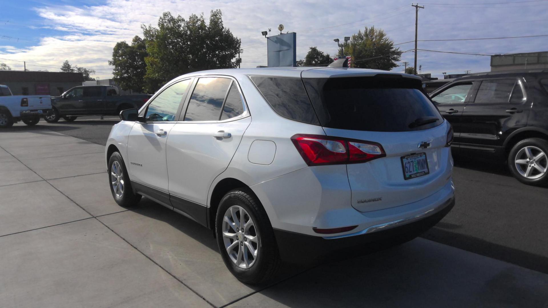
[[491, 56], [491, 71], [548, 69], [548, 52]]

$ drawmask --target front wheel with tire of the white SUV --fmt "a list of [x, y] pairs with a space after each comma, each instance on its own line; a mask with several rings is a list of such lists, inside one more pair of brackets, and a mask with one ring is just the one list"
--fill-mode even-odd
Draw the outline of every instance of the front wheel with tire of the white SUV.
[[141, 200], [141, 195], [133, 192], [124, 159], [119, 152], [112, 153], [109, 159], [109, 186], [119, 206], [133, 207]]

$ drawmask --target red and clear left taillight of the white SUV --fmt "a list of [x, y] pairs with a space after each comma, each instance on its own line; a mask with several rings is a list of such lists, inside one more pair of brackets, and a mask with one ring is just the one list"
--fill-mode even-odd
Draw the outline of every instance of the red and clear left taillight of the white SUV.
[[305, 134], [291, 140], [309, 166], [364, 163], [386, 156], [383, 146], [372, 141]]

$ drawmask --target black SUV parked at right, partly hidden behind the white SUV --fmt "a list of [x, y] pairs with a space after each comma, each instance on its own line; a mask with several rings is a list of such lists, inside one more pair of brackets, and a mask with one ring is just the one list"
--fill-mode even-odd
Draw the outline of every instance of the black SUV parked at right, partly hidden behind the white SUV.
[[454, 153], [506, 160], [521, 182], [548, 184], [548, 70], [476, 73], [430, 96], [453, 124]]

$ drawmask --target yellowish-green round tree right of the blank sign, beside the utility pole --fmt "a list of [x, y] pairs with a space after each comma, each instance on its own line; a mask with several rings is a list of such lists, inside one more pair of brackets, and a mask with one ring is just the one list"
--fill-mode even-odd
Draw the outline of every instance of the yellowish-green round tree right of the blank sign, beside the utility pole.
[[[375, 27], [366, 27], [352, 35], [344, 53], [352, 56], [352, 66], [362, 69], [390, 71], [398, 65], [402, 52], [394, 47], [394, 42], [386, 33]], [[340, 54], [340, 52], [339, 52]], [[369, 59], [369, 60], [364, 60]]]

